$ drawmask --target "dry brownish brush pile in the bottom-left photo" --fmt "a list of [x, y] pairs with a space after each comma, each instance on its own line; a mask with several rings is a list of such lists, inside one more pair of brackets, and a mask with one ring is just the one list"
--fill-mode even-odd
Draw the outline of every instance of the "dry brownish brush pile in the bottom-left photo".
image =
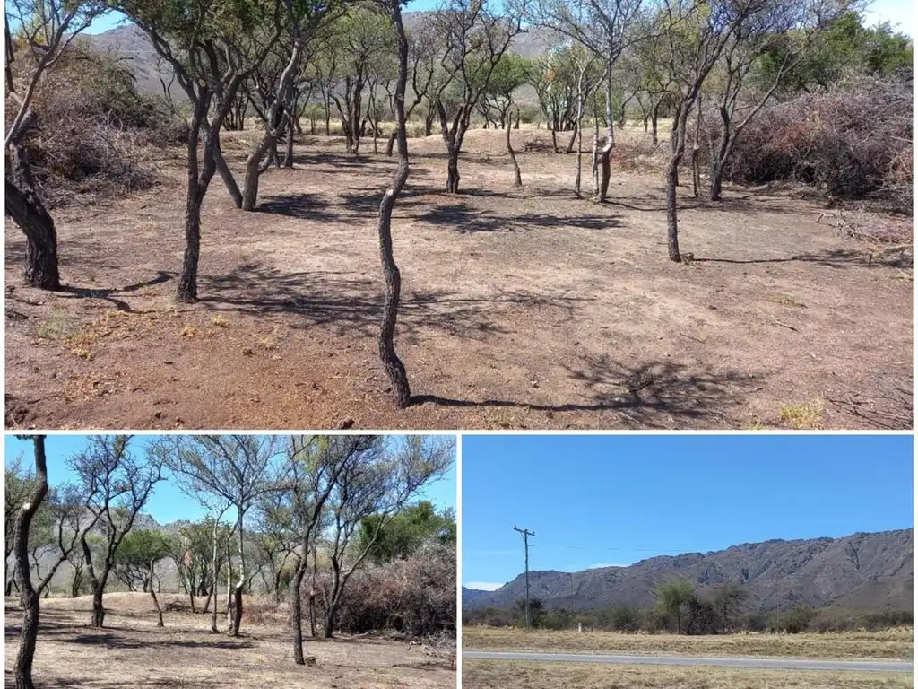
[[455, 548], [429, 543], [408, 559], [354, 573], [338, 612], [351, 634], [390, 630], [410, 638], [455, 637]]

